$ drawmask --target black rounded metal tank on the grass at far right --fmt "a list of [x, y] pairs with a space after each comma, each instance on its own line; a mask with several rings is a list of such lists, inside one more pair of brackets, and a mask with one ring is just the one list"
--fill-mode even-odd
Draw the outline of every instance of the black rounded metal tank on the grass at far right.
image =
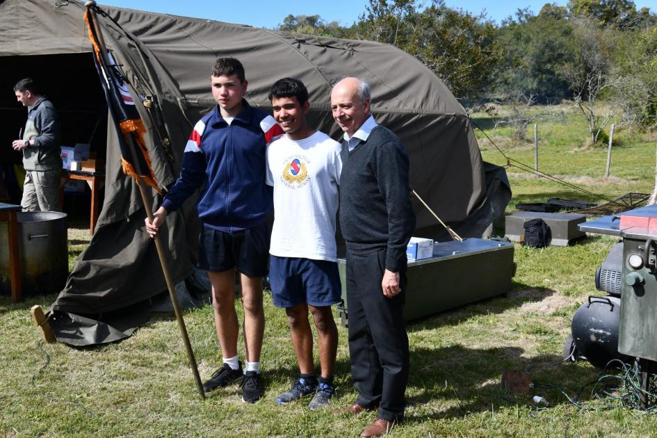
[[604, 368], [611, 359], [631, 362], [618, 352], [620, 306], [620, 298], [590, 296], [573, 316], [571, 332], [577, 354], [593, 366]]

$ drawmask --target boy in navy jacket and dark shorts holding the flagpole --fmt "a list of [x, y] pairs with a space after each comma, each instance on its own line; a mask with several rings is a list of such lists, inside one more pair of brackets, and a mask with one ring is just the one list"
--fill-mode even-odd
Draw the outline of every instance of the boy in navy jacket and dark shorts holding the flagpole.
[[[243, 99], [248, 83], [235, 58], [218, 58], [212, 69], [212, 96], [217, 106], [194, 127], [185, 147], [180, 177], [154, 213], [146, 219], [154, 236], [168, 213], [195, 190], [202, 222], [198, 266], [212, 284], [217, 338], [223, 364], [203, 384], [205, 391], [241, 379], [242, 400], [262, 397], [260, 352], [264, 332], [262, 277], [268, 271], [269, 234], [266, 218], [273, 209], [265, 183], [266, 144], [282, 130], [273, 117]], [[241, 273], [244, 307], [245, 366], [238, 360], [238, 321], [234, 272]]]

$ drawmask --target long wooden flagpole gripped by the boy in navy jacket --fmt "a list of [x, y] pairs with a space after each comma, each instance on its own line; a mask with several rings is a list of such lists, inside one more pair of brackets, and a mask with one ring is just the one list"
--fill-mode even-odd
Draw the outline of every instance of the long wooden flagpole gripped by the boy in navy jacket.
[[[100, 27], [98, 26], [97, 17], [96, 17], [96, 13], [95, 13], [95, 10], [94, 10], [94, 8], [96, 6], [96, 2], [94, 0], [87, 1], [85, 3], [85, 6], [86, 6], [86, 8], [88, 8], [88, 10], [90, 10], [90, 15], [92, 17], [91, 21], [93, 23], [96, 36], [98, 38], [98, 45], [100, 47], [102, 56], [103, 56], [104, 60], [107, 63], [107, 60], [108, 60], [107, 48], [105, 46], [105, 41], [103, 39]], [[131, 136], [125, 136], [125, 137], [126, 137], [126, 140], [128, 142], [128, 145], [129, 145], [130, 153], [132, 155], [133, 165], [135, 167], [136, 173], [138, 174], [138, 175], [135, 176], [135, 179], [136, 179], [137, 185], [139, 186], [139, 193], [141, 194], [141, 199], [142, 199], [143, 204], [144, 204], [144, 209], [146, 210], [146, 215], [148, 216], [148, 219], [152, 222], [153, 221], [153, 210], [152, 210], [150, 199], [149, 199], [149, 197], [146, 193], [145, 183], [143, 181], [143, 178], [140, 177], [142, 172], [141, 172], [141, 169], [140, 169], [139, 161], [137, 159], [137, 152], [136, 152], [136, 149], [135, 149], [135, 145], [132, 141]], [[162, 272], [164, 274], [164, 279], [165, 279], [165, 282], [167, 284], [167, 289], [169, 290], [169, 296], [171, 298], [171, 304], [172, 304], [173, 309], [175, 311], [176, 319], [178, 321], [178, 327], [180, 328], [180, 334], [183, 338], [183, 342], [185, 344], [185, 349], [187, 351], [187, 358], [189, 360], [189, 364], [190, 364], [190, 366], [192, 368], [192, 372], [194, 374], [194, 379], [196, 381], [196, 387], [199, 391], [199, 394], [200, 394], [201, 398], [204, 399], [205, 398], [205, 391], [203, 391], [203, 384], [201, 382], [201, 377], [198, 373], [198, 367], [197, 367], [197, 364], [196, 364], [196, 359], [194, 357], [194, 351], [192, 350], [192, 346], [190, 345], [189, 336], [187, 334], [187, 329], [185, 327], [185, 321], [184, 321], [183, 316], [182, 316], [181, 311], [180, 311], [180, 306], [178, 304], [178, 297], [176, 295], [175, 286], [173, 284], [173, 281], [171, 279], [171, 275], [169, 273], [169, 268], [168, 268], [168, 265], [167, 265], [167, 261], [164, 257], [164, 248], [162, 246], [160, 236], [156, 235], [154, 237], [154, 241], [155, 241], [155, 248], [157, 249], [157, 255], [160, 259], [160, 265], [162, 266]]]

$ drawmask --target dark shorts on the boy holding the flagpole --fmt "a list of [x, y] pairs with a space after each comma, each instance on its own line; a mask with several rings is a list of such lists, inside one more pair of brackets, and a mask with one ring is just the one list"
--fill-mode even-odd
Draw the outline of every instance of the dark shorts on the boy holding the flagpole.
[[240, 232], [220, 232], [201, 227], [198, 267], [213, 273], [236, 268], [247, 277], [267, 275], [269, 232], [258, 225]]

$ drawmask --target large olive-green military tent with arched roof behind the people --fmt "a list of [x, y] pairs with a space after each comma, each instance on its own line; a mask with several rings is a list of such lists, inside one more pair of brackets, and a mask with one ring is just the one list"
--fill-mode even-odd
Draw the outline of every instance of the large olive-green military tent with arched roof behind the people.
[[[92, 148], [106, 159], [104, 206], [95, 233], [51, 307], [67, 312], [76, 323], [95, 325], [102, 315], [126, 314], [124, 309], [149, 300], [166, 286], [143, 227], [138, 189], [122, 174], [117, 131], [93, 66], [84, 10], [79, 1], [0, 1], [0, 142], [8, 144], [24, 123], [24, 110], [13, 102], [11, 87], [17, 79], [32, 76], [46, 85], [60, 111], [63, 143], [86, 143], [91, 138]], [[407, 148], [412, 187], [462, 236], [489, 233], [493, 212], [503, 211], [510, 198], [503, 170], [482, 162], [462, 106], [435, 74], [396, 47], [102, 4], [98, 17], [106, 45], [146, 124], [147, 149], [163, 193], [178, 175], [194, 122], [215, 105], [209, 79], [216, 56], [234, 56], [245, 66], [250, 104], [269, 111], [268, 87], [283, 76], [301, 79], [309, 90], [311, 124], [338, 140], [341, 132], [330, 111], [331, 87], [343, 76], [368, 79], [376, 119], [396, 132]], [[143, 102], [152, 104], [147, 108]], [[161, 202], [155, 190], [152, 197], [155, 205]], [[193, 273], [198, 227], [194, 202], [189, 200], [184, 211], [169, 216], [163, 236], [176, 282]], [[435, 219], [417, 200], [413, 202], [416, 234], [437, 236]], [[69, 330], [60, 340], [68, 336], [77, 335]], [[68, 341], [113, 339], [117, 338], [99, 334], [93, 340]]]

